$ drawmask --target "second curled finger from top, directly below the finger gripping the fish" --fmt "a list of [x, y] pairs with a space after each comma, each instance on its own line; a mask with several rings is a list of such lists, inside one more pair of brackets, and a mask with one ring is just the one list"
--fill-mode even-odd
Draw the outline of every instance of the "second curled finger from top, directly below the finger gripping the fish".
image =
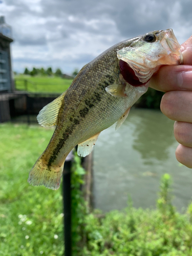
[[171, 91], [163, 95], [161, 111], [169, 119], [192, 123], [192, 92]]

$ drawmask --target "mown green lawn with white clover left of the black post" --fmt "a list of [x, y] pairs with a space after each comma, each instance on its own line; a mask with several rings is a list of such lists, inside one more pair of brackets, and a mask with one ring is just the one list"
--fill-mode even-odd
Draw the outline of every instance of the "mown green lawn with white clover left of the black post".
[[27, 182], [52, 133], [53, 129], [40, 126], [0, 125], [1, 256], [63, 253], [61, 189], [33, 187]]

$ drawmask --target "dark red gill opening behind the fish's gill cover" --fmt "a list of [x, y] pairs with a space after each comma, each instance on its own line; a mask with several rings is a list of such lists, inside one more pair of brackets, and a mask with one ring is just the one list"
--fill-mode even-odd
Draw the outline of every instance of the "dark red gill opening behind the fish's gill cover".
[[145, 83], [142, 83], [139, 81], [139, 78], [135, 75], [134, 70], [123, 60], [119, 60], [119, 67], [120, 67], [120, 72], [125, 79], [125, 81], [131, 86], [145, 86], [145, 84], [150, 80], [148, 79]]

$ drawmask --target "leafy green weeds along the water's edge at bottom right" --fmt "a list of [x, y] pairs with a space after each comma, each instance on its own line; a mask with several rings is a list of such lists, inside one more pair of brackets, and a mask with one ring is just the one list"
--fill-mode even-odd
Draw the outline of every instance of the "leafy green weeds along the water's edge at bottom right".
[[81, 254], [90, 256], [186, 256], [192, 255], [191, 204], [181, 215], [172, 205], [171, 179], [161, 179], [157, 209], [135, 209], [129, 201], [124, 211], [98, 218], [86, 217], [87, 244]]

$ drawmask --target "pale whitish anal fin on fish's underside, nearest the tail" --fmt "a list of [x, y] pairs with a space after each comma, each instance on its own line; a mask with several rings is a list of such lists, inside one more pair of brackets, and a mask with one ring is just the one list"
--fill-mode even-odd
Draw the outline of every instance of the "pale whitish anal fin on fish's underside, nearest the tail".
[[78, 144], [77, 155], [80, 157], [86, 157], [87, 155], [89, 155], [93, 150], [93, 146], [95, 145], [95, 142], [99, 137], [99, 134], [100, 133], [97, 133], [88, 140]]

